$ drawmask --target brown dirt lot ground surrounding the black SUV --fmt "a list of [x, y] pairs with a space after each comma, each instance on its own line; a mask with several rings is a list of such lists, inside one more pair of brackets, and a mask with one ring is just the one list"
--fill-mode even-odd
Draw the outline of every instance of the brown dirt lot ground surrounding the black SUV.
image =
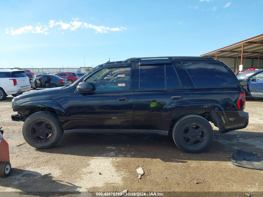
[[[263, 195], [263, 171], [234, 166], [226, 158], [241, 148], [263, 153], [263, 99], [247, 99], [247, 128], [219, 135], [213, 125], [214, 141], [201, 154], [180, 151], [171, 137], [135, 134], [67, 134], [51, 149], [16, 147], [24, 142], [23, 122], [11, 120], [11, 101], [12, 96], [0, 101], [0, 125], [12, 164], [12, 175], [0, 178], [0, 196], [93, 196], [96, 193], [87, 191], [123, 190], [175, 192], [170, 193], [174, 196], [216, 191], [225, 192], [222, 196]], [[138, 167], [145, 171], [141, 179]]]

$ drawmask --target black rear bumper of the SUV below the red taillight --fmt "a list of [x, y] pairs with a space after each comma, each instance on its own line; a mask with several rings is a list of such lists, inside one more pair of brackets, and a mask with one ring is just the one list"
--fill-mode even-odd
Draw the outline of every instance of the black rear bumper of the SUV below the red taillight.
[[217, 111], [216, 115], [220, 134], [247, 127], [249, 116], [243, 110]]

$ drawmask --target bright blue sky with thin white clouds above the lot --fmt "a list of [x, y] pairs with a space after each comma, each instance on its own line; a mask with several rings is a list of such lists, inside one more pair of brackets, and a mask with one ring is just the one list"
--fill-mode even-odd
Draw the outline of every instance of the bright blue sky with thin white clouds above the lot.
[[0, 68], [199, 56], [263, 33], [263, 0], [0, 0]]

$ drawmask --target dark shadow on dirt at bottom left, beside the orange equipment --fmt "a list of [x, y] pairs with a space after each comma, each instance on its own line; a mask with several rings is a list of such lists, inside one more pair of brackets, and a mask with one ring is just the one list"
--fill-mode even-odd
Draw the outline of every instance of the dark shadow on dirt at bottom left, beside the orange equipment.
[[[41, 175], [35, 171], [12, 169], [12, 174], [7, 178], [0, 178], [0, 187], [21, 190], [21, 192], [1, 192], [3, 196], [14, 196], [17, 194], [34, 196], [62, 196], [78, 194], [80, 188], [71, 183], [54, 180], [51, 174]], [[39, 192], [43, 191], [43, 192]], [[70, 192], [67, 192], [70, 191]], [[4, 195], [6, 193], [7, 195]]]

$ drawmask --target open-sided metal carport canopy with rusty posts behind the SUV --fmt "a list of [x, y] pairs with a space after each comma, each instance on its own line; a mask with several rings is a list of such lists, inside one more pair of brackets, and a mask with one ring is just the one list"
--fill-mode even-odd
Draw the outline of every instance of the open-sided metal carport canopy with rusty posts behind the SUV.
[[[241, 58], [241, 64], [243, 64], [243, 58], [259, 59], [263, 58], [263, 34], [237, 42], [235, 44], [223, 47], [211, 51], [209, 53], [200, 55], [201, 57], [215, 57], [220, 58]], [[236, 68], [237, 70], [237, 68]]]

